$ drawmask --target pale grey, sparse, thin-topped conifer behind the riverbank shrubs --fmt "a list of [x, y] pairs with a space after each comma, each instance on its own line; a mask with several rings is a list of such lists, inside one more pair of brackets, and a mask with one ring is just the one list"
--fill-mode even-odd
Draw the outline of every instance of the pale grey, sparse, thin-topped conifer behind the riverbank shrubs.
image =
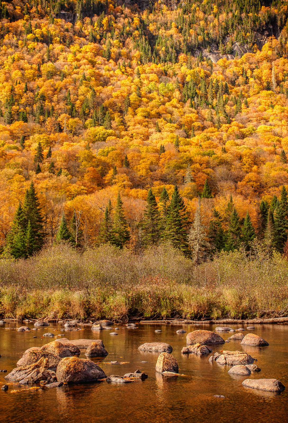
[[205, 228], [201, 223], [201, 203], [199, 197], [194, 222], [188, 234], [188, 242], [191, 246], [194, 264], [199, 264], [205, 257], [207, 247]]

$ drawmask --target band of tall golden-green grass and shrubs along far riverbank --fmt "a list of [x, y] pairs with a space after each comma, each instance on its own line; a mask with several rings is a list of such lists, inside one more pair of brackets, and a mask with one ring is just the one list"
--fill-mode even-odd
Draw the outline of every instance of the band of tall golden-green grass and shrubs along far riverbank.
[[66, 244], [28, 260], [0, 260], [0, 313], [40, 318], [250, 318], [287, 315], [288, 263], [265, 246], [194, 266], [163, 244], [133, 255]]

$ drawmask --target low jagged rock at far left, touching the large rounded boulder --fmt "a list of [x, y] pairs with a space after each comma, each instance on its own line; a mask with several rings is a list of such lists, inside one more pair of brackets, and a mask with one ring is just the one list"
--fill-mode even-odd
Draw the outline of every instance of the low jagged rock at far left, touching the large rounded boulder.
[[39, 383], [41, 380], [55, 382], [56, 376], [55, 372], [49, 370], [49, 360], [42, 357], [36, 363], [14, 368], [4, 379], [15, 380], [17, 382], [25, 379], [26, 383]]

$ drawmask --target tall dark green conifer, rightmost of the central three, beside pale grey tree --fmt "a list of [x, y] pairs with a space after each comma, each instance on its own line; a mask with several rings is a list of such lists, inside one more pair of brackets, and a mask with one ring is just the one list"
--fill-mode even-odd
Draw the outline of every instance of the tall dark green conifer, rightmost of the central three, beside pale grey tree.
[[167, 208], [165, 239], [185, 254], [187, 254], [188, 248], [187, 221], [186, 206], [178, 192], [177, 185], [175, 185], [171, 202]]

